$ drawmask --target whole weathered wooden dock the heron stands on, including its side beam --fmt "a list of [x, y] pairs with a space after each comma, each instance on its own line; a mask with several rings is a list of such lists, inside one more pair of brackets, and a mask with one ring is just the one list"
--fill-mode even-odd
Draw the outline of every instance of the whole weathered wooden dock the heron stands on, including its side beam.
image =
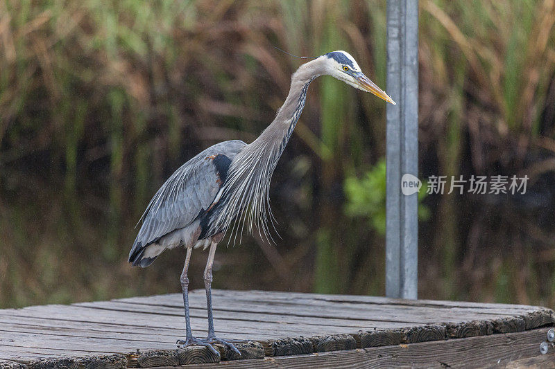
[[[214, 290], [216, 346], [176, 349], [180, 294], [0, 310], [0, 368], [555, 368], [551, 309], [370, 296]], [[206, 336], [204, 290], [191, 291]], [[221, 361], [219, 363], [219, 361]]]

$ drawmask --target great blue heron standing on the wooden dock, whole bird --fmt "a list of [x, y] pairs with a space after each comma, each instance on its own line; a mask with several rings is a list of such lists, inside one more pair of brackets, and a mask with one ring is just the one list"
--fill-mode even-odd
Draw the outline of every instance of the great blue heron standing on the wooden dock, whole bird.
[[[395, 104], [345, 51], [316, 57], [293, 73], [287, 99], [255, 141], [248, 145], [238, 140], [225, 141], [200, 152], [169, 177], [142, 215], [143, 223], [129, 253], [129, 262], [148, 267], [166, 249], [178, 246], [187, 249], [180, 278], [186, 325], [185, 340], [178, 340], [181, 347], [205, 345], [216, 352], [212, 344], [220, 343], [239, 354], [232, 343], [214, 333], [211, 284], [216, 244], [227, 231], [235, 231], [237, 235], [245, 225], [249, 233], [253, 226], [268, 233], [268, 218], [272, 217], [268, 195], [272, 173], [305, 107], [309, 84], [320, 75], [332, 75]], [[197, 339], [191, 332], [187, 269], [191, 251], [209, 246], [204, 271], [208, 336]]]

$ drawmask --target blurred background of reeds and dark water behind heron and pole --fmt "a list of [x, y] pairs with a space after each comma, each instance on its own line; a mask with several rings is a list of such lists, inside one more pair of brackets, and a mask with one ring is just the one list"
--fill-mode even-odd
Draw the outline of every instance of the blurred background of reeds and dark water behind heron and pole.
[[[126, 262], [155, 190], [271, 122], [302, 62], [272, 45], [349, 51], [384, 86], [385, 19], [385, 0], [1, 1], [0, 307], [178, 291], [178, 251]], [[420, 177], [531, 178], [422, 200], [422, 298], [555, 305], [554, 21], [553, 0], [420, 1]], [[273, 176], [282, 240], [222, 246], [214, 287], [383, 294], [382, 209], [345, 214], [343, 183], [379, 186], [384, 145], [382, 100], [316, 80]]]

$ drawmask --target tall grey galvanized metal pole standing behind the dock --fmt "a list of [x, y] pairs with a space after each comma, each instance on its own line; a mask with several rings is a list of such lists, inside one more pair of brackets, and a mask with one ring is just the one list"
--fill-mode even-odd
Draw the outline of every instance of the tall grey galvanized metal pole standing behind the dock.
[[418, 0], [387, 1], [386, 83], [386, 296], [417, 298], [418, 193], [401, 178], [418, 177]]

